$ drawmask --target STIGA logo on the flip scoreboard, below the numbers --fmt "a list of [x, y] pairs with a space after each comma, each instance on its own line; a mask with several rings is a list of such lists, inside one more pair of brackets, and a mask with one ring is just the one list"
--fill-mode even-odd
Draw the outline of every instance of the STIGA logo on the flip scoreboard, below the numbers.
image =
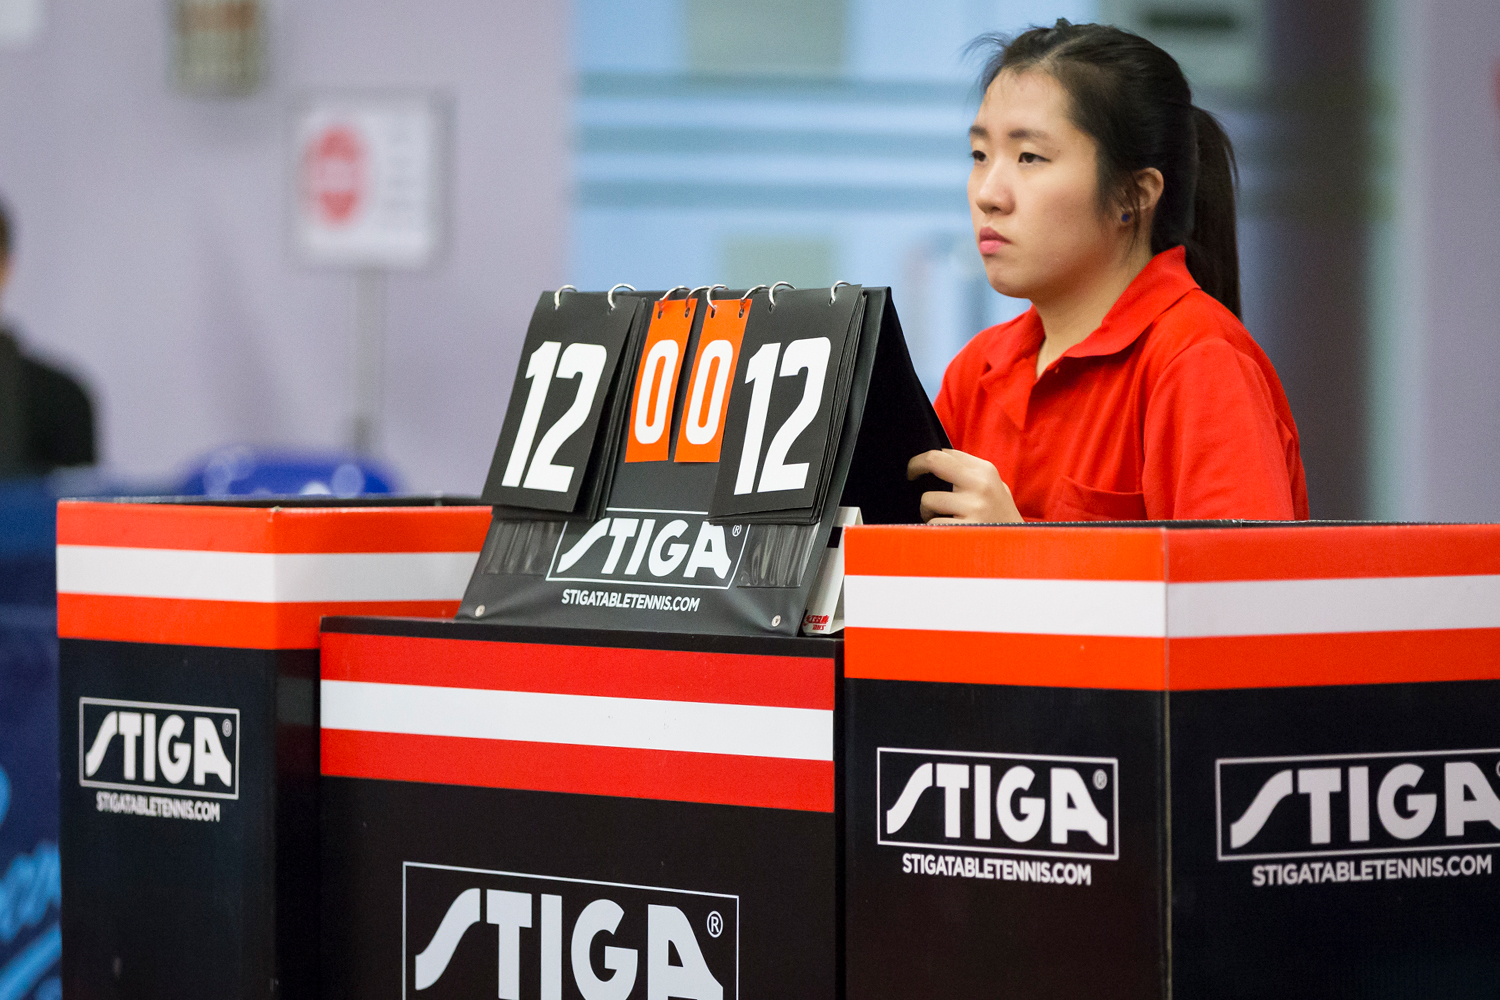
[[616, 513], [588, 529], [568, 522], [548, 579], [722, 591], [734, 582], [747, 534], [741, 525], [670, 510]]

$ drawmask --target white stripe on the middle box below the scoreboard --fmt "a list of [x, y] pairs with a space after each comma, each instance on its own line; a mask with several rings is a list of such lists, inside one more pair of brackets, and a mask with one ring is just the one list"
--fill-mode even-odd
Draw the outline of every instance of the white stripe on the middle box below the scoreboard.
[[372, 733], [834, 759], [834, 714], [810, 708], [322, 681], [320, 714]]

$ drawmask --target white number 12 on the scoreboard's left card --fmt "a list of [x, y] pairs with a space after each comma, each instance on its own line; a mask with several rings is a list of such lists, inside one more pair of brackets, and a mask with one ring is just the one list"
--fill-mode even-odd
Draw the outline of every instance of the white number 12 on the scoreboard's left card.
[[516, 444], [510, 448], [506, 475], [500, 480], [501, 486], [520, 486], [520, 474], [526, 468], [526, 456], [531, 454], [531, 442], [537, 436], [537, 423], [542, 420], [542, 408], [548, 402], [548, 388], [552, 385], [554, 375], [562, 379], [582, 378], [579, 378], [573, 405], [542, 435], [537, 453], [531, 459], [531, 471], [526, 472], [525, 487], [567, 493], [568, 483], [573, 481], [573, 466], [552, 465], [552, 459], [558, 448], [588, 420], [588, 411], [594, 405], [594, 394], [598, 391], [598, 379], [604, 373], [609, 352], [598, 343], [570, 343], [567, 351], [562, 351], [562, 357], [558, 358], [561, 348], [562, 345], [556, 340], [544, 340], [531, 352], [531, 360], [526, 363], [531, 390], [526, 393], [526, 405], [520, 411], [520, 427], [516, 429]]

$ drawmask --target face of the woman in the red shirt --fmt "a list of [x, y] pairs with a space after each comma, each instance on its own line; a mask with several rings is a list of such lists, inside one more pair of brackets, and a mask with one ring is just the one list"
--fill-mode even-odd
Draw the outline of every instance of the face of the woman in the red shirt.
[[1044, 72], [1002, 72], [969, 129], [969, 211], [990, 286], [1047, 300], [1086, 286], [1119, 253], [1119, 216], [1100, 208], [1094, 139]]

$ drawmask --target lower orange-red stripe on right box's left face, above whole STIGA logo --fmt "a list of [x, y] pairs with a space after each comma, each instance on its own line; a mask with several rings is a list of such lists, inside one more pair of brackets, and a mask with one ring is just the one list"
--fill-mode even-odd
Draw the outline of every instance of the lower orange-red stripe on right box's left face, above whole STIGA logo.
[[846, 628], [844, 676], [1161, 691], [1161, 639]]

